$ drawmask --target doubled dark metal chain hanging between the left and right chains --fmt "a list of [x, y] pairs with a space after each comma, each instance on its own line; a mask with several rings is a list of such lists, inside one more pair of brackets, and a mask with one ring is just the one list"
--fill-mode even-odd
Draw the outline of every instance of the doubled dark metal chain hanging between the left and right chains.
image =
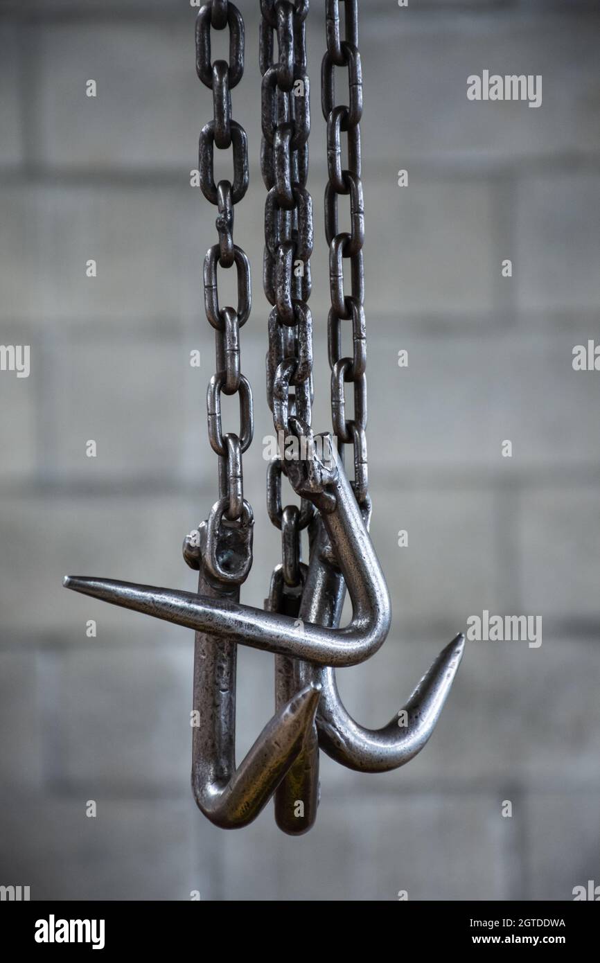
[[[282, 508], [281, 480], [286, 466], [281, 441], [310, 435], [312, 316], [310, 255], [313, 247], [312, 198], [306, 190], [309, 85], [306, 76], [305, 19], [308, 0], [260, 0], [262, 80], [261, 171], [265, 203], [263, 285], [273, 310], [269, 318], [267, 399], [273, 411], [280, 457], [269, 466], [267, 508], [281, 531], [282, 566], [273, 593], [301, 585], [300, 533], [314, 508], [302, 500]], [[277, 60], [274, 60], [274, 36]], [[276, 585], [275, 585], [276, 583]], [[272, 604], [277, 605], [272, 597]]]

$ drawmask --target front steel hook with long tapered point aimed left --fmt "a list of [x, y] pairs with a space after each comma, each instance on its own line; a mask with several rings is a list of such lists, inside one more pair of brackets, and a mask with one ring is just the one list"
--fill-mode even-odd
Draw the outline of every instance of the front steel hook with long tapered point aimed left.
[[288, 477], [299, 495], [321, 514], [352, 599], [352, 621], [343, 629], [264, 612], [236, 602], [170, 588], [112, 579], [66, 576], [64, 585], [135, 612], [145, 612], [196, 632], [231, 638], [243, 645], [293, 656], [318, 665], [357, 665], [382, 645], [390, 624], [390, 598], [371, 538], [363, 525], [341, 464], [318, 458], [291, 461]]

